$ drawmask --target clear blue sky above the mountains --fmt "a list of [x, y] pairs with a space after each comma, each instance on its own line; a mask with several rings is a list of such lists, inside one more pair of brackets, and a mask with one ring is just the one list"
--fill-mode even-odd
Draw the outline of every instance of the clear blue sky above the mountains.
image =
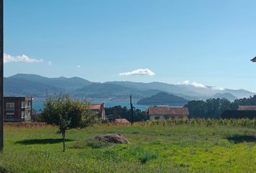
[[254, 0], [4, 1], [4, 76], [189, 80], [256, 92], [256, 63], [249, 61], [256, 56], [255, 6]]

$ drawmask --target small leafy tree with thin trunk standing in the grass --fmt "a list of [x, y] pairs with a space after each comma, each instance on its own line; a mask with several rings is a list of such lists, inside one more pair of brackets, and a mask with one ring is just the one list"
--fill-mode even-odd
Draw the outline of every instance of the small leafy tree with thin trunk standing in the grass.
[[56, 125], [62, 135], [63, 151], [65, 151], [66, 130], [86, 128], [95, 121], [95, 114], [89, 108], [90, 102], [70, 99], [69, 95], [49, 97], [43, 108], [42, 116], [46, 123]]

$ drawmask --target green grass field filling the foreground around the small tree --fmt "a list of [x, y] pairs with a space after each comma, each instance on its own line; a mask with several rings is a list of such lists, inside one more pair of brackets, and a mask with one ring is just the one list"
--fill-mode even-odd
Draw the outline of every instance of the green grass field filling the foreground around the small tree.
[[[98, 126], [67, 131], [65, 152], [56, 131], [54, 127], [5, 127], [0, 170], [256, 172], [255, 128]], [[121, 133], [130, 143], [109, 145], [92, 140], [104, 133]]]

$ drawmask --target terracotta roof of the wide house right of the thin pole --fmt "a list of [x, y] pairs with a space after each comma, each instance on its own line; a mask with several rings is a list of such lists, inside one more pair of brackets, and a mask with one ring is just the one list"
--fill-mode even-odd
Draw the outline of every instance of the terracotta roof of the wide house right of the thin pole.
[[189, 115], [187, 107], [149, 107], [148, 115]]

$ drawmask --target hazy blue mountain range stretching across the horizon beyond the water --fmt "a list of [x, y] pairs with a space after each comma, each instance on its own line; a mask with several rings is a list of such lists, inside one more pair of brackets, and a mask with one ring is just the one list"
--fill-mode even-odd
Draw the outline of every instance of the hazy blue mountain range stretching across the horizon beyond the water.
[[76, 98], [108, 100], [129, 99], [130, 94], [138, 100], [151, 97], [159, 92], [166, 92], [187, 100], [226, 97], [232, 101], [255, 94], [244, 89], [219, 89], [215, 86], [198, 87], [162, 82], [107, 81], [101, 83], [80, 77], [47, 78], [35, 74], [16, 74], [4, 78], [4, 95], [44, 98], [46, 95], [60, 92], [69, 92], [71, 97]]

